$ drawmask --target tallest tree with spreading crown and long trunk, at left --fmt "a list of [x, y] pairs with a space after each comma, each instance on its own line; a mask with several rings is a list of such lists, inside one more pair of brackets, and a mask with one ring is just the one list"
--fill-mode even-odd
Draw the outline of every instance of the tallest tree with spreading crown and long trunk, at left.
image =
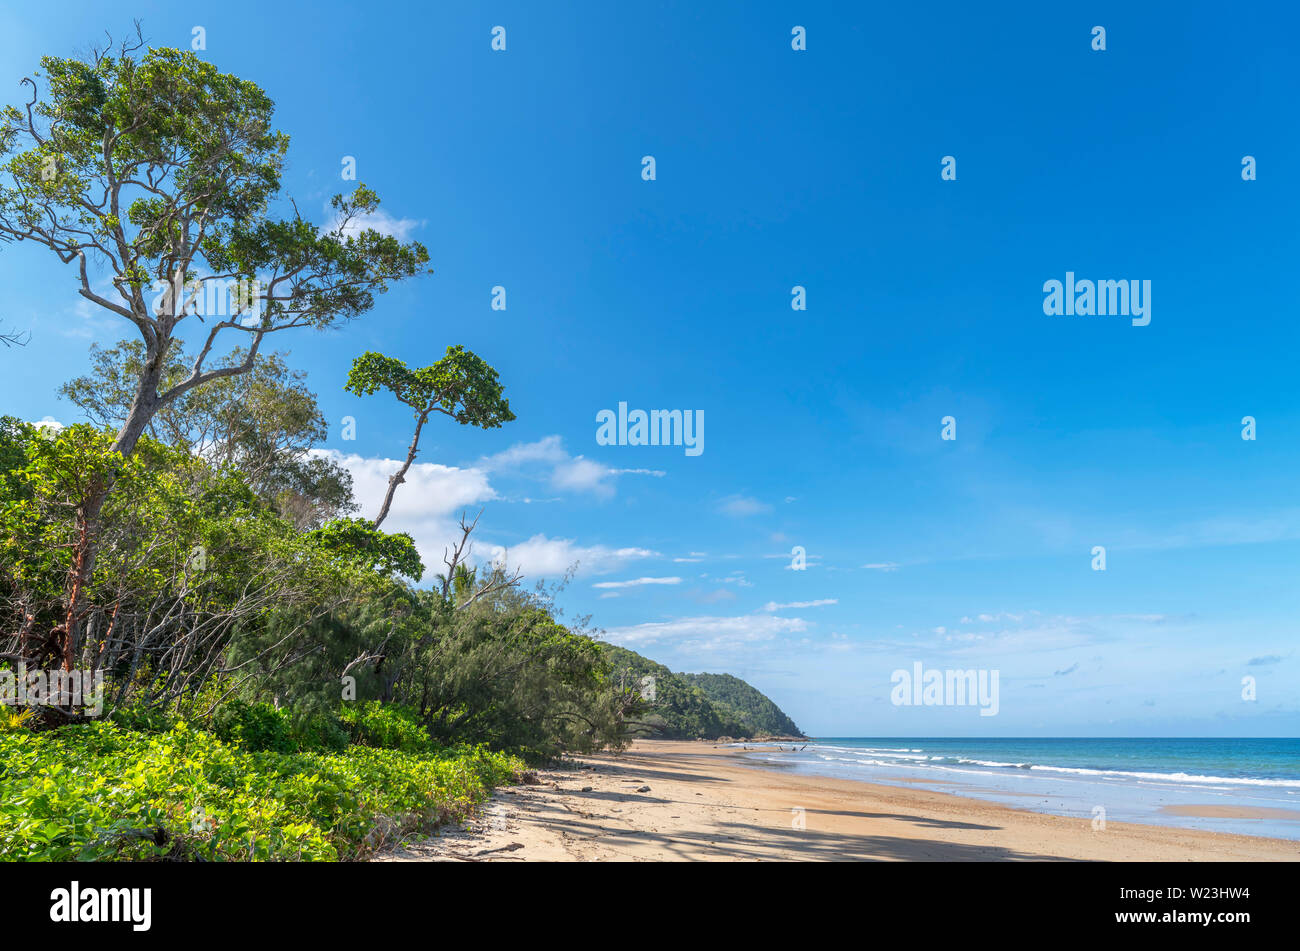
[[[113, 451], [130, 456], [160, 408], [252, 369], [268, 334], [326, 327], [367, 312], [373, 294], [420, 273], [428, 252], [365, 229], [378, 196], [359, 184], [317, 229], [296, 207], [273, 217], [289, 136], [255, 83], [188, 51], [135, 39], [86, 60], [43, 57], [46, 94], [0, 118], [0, 239], [32, 242], [77, 268], [78, 294], [139, 333], [144, 359]], [[92, 281], [91, 259], [108, 270]], [[152, 291], [152, 299], [151, 299]], [[218, 311], [220, 313], [212, 313]], [[204, 325], [183, 378], [164, 381], [188, 318]], [[239, 362], [218, 364], [231, 339]], [[78, 511], [68, 624], [91, 577], [113, 469]]]

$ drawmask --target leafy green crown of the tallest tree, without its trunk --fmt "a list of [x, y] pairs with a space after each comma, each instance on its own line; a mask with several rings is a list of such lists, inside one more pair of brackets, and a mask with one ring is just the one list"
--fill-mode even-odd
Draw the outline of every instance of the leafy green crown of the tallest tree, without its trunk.
[[[69, 257], [112, 248], [124, 304], [146, 321], [143, 290], [177, 266], [187, 278], [282, 275], [261, 314], [263, 327], [280, 327], [363, 313], [373, 291], [428, 264], [417, 243], [356, 233], [354, 222], [380, 204], [364, 184], [332, 200], [338, 220], [328, 231], [268, 218], [289, 148], [272, 127], [274, 103], [191, 51], [140, 45], [90, 62], [42, 58], [47, 88], [34, 121], [8, 107], [0, 125], [12, 152], [0, 169], [13, 182], [0, 187], [0, 233]], [[181, 301], [169, 309], [181, 313]], [[164, 349], [168, 338], [157, 340]]]

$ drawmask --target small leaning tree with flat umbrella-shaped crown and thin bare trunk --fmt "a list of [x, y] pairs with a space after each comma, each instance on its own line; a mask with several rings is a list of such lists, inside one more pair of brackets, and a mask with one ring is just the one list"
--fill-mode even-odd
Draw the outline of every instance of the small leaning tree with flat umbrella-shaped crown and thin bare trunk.
[[447, 347], [447, 355], [432, 366], [412, 370], [396, 357], [373, 351], [352, 361], [346, 390], [358, 396], [369, 396], [380, 387], [415, 411], [415, 435], [407, 448], [402, 468], [389, 477], [384, 504], [374, 516], [380, 527], [393, 505], [393, 494], [406, 481], [406, 474], [420, 450], [420, 433], [433, 413], [450, 416], [462, 425], [493, 429], [510, 422], [510, 400], [502, 398], [502, 385], [497, 370], [464, 347]]

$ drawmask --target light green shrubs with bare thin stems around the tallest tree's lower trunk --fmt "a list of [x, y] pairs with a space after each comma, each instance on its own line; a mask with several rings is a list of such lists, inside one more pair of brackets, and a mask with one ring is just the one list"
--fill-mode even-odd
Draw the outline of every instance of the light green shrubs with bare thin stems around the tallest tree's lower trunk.
[[[38, 642], [66, 616], [82, 505], [98, 486], [116, 483], [96, 520], [99, 557], [77, 592], [87, 635], [70, 647], [74, 663], [104, 669], [120, 687], [110, 707], [140, 694], [155, 707], [178, 702], [207, 682], [231, 640], [272, 624], [278, 637], [265, 644], [260, 669], [276, 669], [303, 652], [313, 617], [332, 599], [377, 583], [298, 531], [239, 473], [150, 438], [130, 457], [112, 442], [86, 424], [29, 427], [18, 439], [25, 464], [0, 482], [0, 611], [8, 612], [0, 631], [30, 626]], [[150, 621], [150, 612], [168, 624]]]

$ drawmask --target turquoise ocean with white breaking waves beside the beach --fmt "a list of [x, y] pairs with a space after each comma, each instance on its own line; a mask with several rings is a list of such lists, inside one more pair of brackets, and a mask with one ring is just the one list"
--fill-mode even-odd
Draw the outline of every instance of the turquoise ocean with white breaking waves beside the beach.
[[1300, 739], [823, 737], [802, 751], [784, 746], [745, 757], [1074, 816], [1098, 830], [1124, 821], [1300, 841]]

